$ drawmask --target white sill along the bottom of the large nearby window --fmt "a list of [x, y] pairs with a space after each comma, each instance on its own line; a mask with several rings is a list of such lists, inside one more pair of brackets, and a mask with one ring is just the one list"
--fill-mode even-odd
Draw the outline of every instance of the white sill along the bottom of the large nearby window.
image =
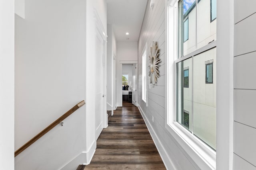
[[177, 122], [166, 123], [166, 129], [200, 169], [216, 169], [216, 152], [214, 150]]

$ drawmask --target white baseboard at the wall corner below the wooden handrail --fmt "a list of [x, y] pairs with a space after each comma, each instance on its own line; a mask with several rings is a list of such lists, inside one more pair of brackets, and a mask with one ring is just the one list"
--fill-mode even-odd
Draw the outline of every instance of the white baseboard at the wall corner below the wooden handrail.
[[65, 166], [60, 168], [60, 170], [76, 170], [78, 165], [88, 165], [90, 164], [92, 157], [96, 151], [96, 141], [91, 145], [91, 147], [86, 151], [78, 154], [73, 160], [68, 162]]

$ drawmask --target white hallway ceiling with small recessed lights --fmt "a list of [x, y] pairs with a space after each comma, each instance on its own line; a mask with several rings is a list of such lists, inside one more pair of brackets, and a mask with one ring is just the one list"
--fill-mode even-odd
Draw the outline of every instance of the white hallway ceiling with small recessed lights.
[[138, 41], [148, 0], [106, 1], [107, 23], [112, 24], [116, 41]]

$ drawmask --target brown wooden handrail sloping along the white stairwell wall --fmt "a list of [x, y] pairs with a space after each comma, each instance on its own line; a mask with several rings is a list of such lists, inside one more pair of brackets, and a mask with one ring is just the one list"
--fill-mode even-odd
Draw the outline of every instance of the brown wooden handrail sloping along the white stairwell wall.
[[56, 125], [58, 125], [61, 121], [66, 119], [69, 115], [74, 113], [77, 109], [84, 106], [85, 102], [84, 100], [80, 103], [78, 103], [76, 106], [72, 107], [69, 111], [67, 111], [64, 115], [60, 116], [56, 121], [54, 121], [52, 124], [50, 124], [48, 127], [46, 127], [44, 130], [42, 130], [40, 133], [38, 133], [35, 137], [30, 139], [26, 144], [24, 144], [22, 147], [20, 147], [18, 150], [14, 152], [14, 157], [20, 154], [23, 150], [28, 148], [30, 145], [32, 145], [34, 142], [36, 142], [40, 137], [45, 135], [48, 131], [50, 131], [52, 128], [54, 128]]

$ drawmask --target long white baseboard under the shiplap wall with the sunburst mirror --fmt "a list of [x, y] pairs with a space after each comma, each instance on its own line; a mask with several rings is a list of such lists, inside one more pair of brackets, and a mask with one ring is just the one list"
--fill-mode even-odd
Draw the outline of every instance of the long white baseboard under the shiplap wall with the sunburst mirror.
[[156, 149], [158, 150], [161, 158], [162, 158], [162, 161], [164, 162], [164, 165], [166, 167], [167, 170], [175, 170], [175, 166], [172, 162], [172, 160], [170, 159], [170, 157], [168, 156], [167, 152], [166, 152], [166, 149], [164, 149], [164, 146], [162, 145], [161, 141], [159, 140], [158, 136], [156, 135], [152, 125], [149, 123], [145, 113], [143, 112], [143, 110], [141, 109], [140, 105], [138, 104], [138, 109], [140, 111], [140, 114], [142, 115], [145, 123], [146, 123], [146, 126], [148, 128], [148, 131], [154, 141], [154, 144], [156, 145]]

